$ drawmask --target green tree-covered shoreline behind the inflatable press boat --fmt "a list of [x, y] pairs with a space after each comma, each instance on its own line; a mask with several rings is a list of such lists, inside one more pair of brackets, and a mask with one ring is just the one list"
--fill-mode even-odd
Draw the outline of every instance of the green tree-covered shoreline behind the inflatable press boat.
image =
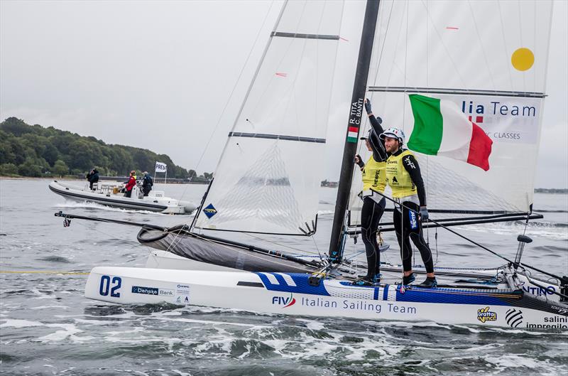
[[0, 176], [80, 176], [93, 167], [102, 175], [128, 176], [133, 169], [153, 173], [156, 161], [168, 165], [168, 178], [212, 178], [212, 173], [197, 176], [194, 170], [176, 166], [168, 155], [148, 149], [105, 144], [92, 136], [31, 126], [16, 117], [0, 123]]

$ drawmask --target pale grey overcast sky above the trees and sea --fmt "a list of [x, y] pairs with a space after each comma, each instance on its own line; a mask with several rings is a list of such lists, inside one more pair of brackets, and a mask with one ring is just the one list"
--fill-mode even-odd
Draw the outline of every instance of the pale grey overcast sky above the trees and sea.
[[[0, 1], [0, 118], [151, 149], [199, 173], [213, 171], [280, 4]], [[363, 4], [351, 2], [344, 16]], [[567, 18], [567, 1], [555, 1], [537, 187], [568, 187]], [[359, 32], [345, 26], [342, 37], [356, 40]], [[353, 67], [339, 60], [337, 70]], [[341, 131], [329, 127], [330, 180], [339, 176], [348, 109], [332, 111]]]

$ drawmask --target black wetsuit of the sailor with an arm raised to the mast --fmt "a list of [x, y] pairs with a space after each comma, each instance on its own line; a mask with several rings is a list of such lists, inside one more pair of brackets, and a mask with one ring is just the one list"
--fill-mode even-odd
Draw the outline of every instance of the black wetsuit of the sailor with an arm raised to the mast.
[[[372, 114], [369, 116], [369, 122], [371, 122], [371, 128], [373, 129], [368, 134], [368, 141], [373, 150], [373, 159], [377, 162], [386, 161], [388, 154], [385, 149], [385, 143], [378, 138], [378, 135], [383, 133], [383, 127], [381, 127], [381, 123]], [[363, 198], [361, 238], [363, 239], [367, 256], [367, 276], [370, 278], [374, 278], [380, 272], [381, 254], [377, 243], [377, 229], [385, 211], [385, 205], [384, 197], [378, 203], [369, 196]]]

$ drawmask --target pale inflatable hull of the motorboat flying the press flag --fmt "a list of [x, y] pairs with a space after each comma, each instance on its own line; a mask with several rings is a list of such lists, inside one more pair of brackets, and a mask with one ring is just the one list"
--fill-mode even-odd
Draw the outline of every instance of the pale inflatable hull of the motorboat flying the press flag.
[[112, 190], [82, 190], [58, 181], [52, 181], [49, 184], [49, 188], [53, 193], [62, 195], [64, 198], [69, 200], [79, 202], [87, 201], [90, 203], [110, 206], [111, 208], [148, 210], [166, 214], [190, 214], [196, 208], [196, 205], [187, 201], [175, 200], [168, 197], [155, 197], [150, 195], [138, 198], [138, 195], [133, 193], [133, 197], [128, 198], [124, 197], [122, 193], [113, 193]]

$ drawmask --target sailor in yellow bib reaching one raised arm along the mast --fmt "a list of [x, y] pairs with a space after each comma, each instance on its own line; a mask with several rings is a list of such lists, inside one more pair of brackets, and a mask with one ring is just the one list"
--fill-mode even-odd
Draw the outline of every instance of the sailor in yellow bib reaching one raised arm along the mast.
[[[371, 129], [365, 140], [368, 151], [373, 154], [369, 157], [367, 163], [361, 160], [361, 156], [356, 154], [355, 163], [361, 168], [363, 173], [363, 190], [359, 193], [359, 197], [363, 200], [361, 208], [361, 237], [365, 245], [367, 255], [367, 274], [359, 276], [364, 281], [378, 283], [381, 280], [381, 255], [377, 243], [378, 222], [381, 220], [385, 211], [385, 198], [377, 192], [384, 193], [386, 187], [385, 166], [387, 154], [383, 141], [378, 137], [383, 132], [381, 127], [381, 118], [378, 119], [371, 111], [371, 101], [365, 100], [365, 109], [367, 111]], [[375, 192], [373, 192], [373, 190]]]

